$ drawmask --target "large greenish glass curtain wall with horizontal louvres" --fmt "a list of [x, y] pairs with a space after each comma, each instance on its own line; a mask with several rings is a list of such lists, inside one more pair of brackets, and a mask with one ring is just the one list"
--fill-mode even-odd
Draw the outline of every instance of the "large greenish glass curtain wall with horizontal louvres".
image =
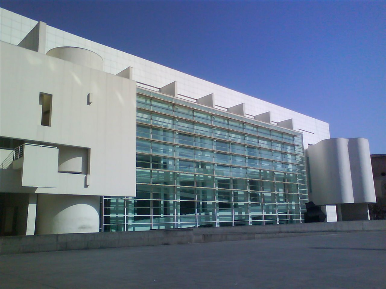
[[103, 198], [103, 231], [300, 223], [302, 135], [137, 88], [136, 190]]

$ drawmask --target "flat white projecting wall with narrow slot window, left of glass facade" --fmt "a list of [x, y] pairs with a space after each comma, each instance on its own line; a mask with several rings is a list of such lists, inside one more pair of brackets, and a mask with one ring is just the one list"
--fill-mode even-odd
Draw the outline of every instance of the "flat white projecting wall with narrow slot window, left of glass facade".
[[[86, 175], [59, 173], [56, 188], [37, 193], [135, 195], [134, 81], [5, 42], [0, 61], [1, 136], [90, 148], [91, 185], [85, 185]], [[51, 126], [41, 125], [40, 92], [52, 94]], [[2, 191], [29, 192], [14, 182], [6, 185]]]

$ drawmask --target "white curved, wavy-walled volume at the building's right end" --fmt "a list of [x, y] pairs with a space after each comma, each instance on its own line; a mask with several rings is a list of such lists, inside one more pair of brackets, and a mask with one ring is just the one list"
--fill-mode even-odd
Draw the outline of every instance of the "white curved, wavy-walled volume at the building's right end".
[[307, 159], [316, 205], [376, 202], [367, 139], [325, 139], [308, 148]]

